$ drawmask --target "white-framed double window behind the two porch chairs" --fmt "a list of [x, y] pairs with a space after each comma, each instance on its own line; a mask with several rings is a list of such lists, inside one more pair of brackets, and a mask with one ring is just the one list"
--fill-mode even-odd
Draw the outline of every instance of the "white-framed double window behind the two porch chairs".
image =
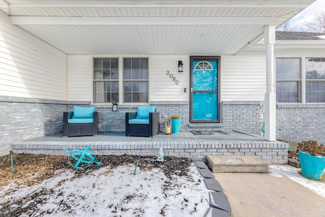
[[147, 103], [148, 90], [148, 58], [93, 58], [93, 103]]

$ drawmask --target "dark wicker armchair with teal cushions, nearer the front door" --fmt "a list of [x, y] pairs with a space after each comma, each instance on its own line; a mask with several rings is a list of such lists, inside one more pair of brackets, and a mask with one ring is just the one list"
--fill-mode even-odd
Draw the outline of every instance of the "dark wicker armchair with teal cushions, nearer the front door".
[[159, 133], [159, 112], [156, 107], [141, 107], [125, 113], [125, 136], [153, 137]]

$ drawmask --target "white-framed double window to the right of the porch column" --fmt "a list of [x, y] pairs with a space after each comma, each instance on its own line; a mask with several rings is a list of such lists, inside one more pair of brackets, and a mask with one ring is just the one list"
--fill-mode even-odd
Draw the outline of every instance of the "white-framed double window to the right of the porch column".
[[324, 103], [325, 58], [276, 58], [276, 100]]

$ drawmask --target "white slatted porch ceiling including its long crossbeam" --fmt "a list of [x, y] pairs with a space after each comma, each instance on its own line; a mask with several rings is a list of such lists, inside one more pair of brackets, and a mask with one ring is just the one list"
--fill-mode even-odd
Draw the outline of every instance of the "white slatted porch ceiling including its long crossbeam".
[[313, 2], [0, 0], [0, 10], [67, 54], [233, 55]]

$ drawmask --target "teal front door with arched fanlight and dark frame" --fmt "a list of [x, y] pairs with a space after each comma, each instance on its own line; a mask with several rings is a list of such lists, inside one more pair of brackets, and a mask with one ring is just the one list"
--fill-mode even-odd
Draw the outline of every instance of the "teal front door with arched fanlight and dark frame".
[[190, 122], [220, 122], [219, 56], [190, 57]]

